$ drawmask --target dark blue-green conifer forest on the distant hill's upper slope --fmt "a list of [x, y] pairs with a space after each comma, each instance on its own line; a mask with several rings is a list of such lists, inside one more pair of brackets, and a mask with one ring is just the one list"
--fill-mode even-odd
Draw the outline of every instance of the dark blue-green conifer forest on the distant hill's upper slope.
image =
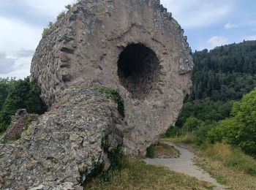
[[256, 86], [256, 41], [217, 47], [193, 54], [191, 99], [241, 99]]

